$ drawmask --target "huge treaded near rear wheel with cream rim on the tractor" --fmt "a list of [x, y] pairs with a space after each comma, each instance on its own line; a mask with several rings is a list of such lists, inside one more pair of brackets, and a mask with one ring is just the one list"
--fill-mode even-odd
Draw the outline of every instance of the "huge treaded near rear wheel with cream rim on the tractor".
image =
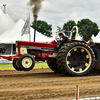
[[94, 64], [94, 52], [82, 42], [65, 44], [57, 55], [59, 70], [72, 76], [87, 75], [94, 68]]

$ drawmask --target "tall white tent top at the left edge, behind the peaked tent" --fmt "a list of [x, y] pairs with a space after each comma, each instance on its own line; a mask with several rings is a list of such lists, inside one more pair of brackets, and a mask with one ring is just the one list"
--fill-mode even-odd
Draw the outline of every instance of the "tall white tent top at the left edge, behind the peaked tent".
[[4, 14], [0, 9], [0, 34], [8, 30], [15, 22], [9, 17], [8, 14]]

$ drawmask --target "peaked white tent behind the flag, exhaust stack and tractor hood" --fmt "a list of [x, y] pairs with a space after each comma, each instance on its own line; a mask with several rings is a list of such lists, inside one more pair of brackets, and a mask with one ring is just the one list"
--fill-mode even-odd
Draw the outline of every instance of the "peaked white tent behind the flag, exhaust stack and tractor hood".
[[[24, 25], [24, 21], [20, 19], [18, 22], [16, 22], [11, 28], [9, 28], [6, 32], [2, 33], [0, 35], [0, 43], [5, 44], [14, 44], [16, 40], [23, 40], [23, 41], [29, 41], [29, 35], [23, 35], [21, 37], [21, 30]], [[30, 28], [31, 33], [31, 41], [33, 41], [34, 38], [34, 29]], [[36, 42], [50, 42], [54, 40], [53, 38], [49, 38], [47, 36], [44, 36], [41, 33], [36, 32]]]

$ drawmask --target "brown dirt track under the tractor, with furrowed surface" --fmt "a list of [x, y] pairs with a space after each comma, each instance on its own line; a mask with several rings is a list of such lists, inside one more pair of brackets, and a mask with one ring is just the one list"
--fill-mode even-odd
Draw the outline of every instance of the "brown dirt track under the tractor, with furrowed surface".
[[50, 69], [0, 71], [0, 100], [70, 100], [75, 98], [76, 85], [80, 97], [100, 97], [100, 71], [84, 77], [55, 74]]

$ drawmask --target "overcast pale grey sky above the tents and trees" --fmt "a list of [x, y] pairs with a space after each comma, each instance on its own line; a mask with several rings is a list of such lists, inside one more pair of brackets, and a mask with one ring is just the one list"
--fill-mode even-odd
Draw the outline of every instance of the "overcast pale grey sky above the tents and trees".
[[[7, 4], [6, 12], [14, 21], [22, 18], [24, 21], [28, 17], [28, 0], [0, 0], [2, 4]], [[68, 20], [81, 20], [89, 18], [100, 27], [100, 0], [44, 0], [38, 15], [38, 20], [47, 21], [52, 24], [53, 32], [57, 26], [62, 27]], [[33, 21], [31, 13], [31, 22]]]

